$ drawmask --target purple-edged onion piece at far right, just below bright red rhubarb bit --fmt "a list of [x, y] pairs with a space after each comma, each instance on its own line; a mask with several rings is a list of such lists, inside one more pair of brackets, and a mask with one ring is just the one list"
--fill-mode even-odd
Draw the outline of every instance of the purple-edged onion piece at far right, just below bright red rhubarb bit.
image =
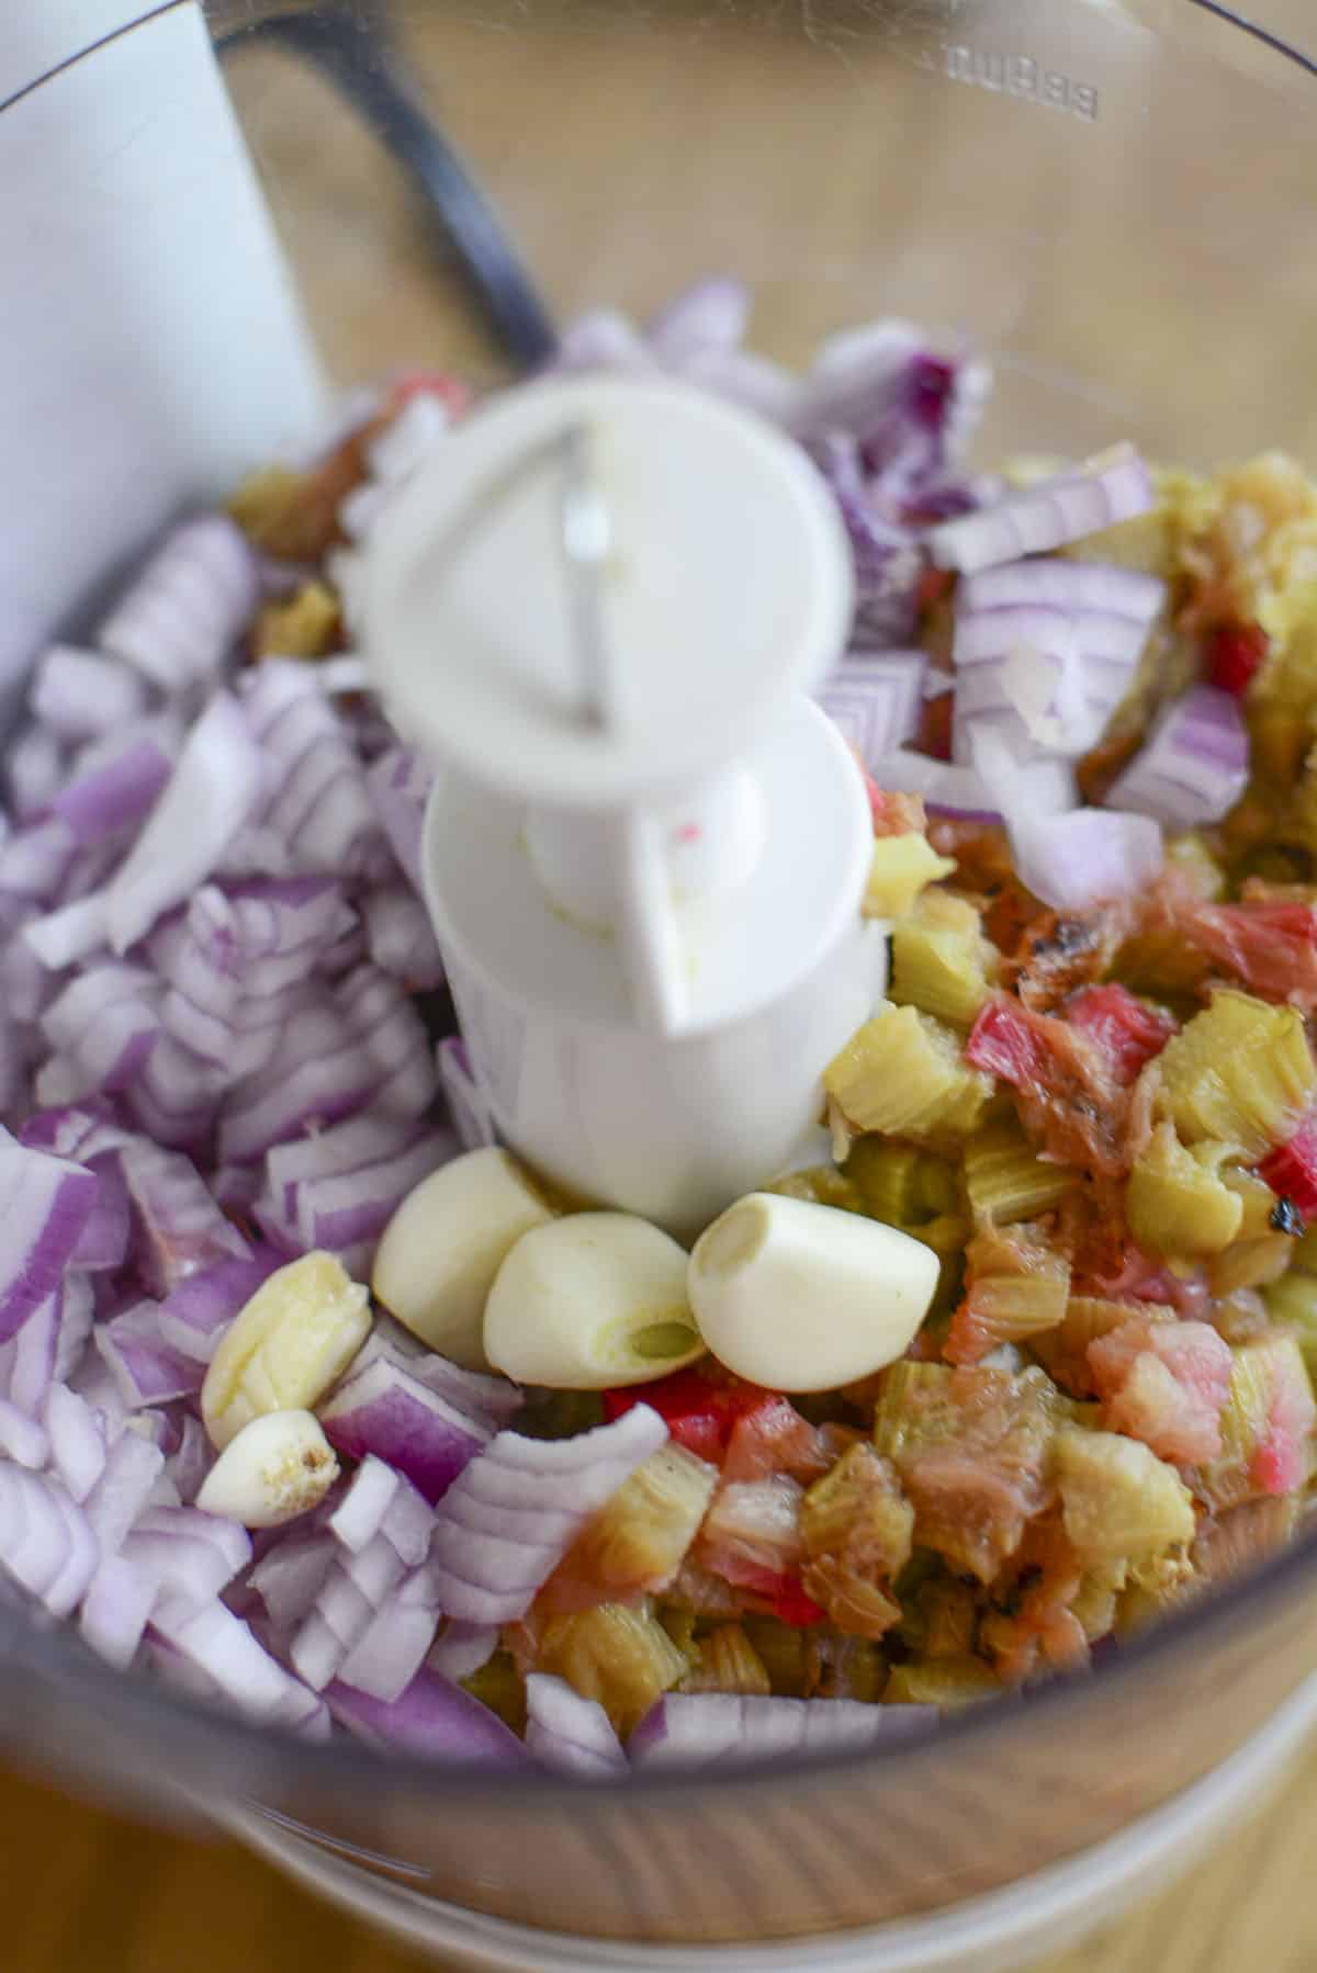
[[1222, 821], [1246, 783], [1248, 728], [1240, 700], [1212, 685], [1195, 685], [1161, 714], [1108, 801], [1169, 829], [1195, 829]]

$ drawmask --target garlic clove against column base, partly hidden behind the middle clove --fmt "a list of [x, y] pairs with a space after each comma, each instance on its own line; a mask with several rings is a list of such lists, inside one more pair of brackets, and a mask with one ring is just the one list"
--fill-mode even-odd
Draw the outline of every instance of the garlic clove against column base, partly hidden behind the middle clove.
[[504, 1259], [553, 1211], [505, 1150], [468, 1150], [409, 1192], [385, 1227], [371, 1286], [430, 1350], [488, 1369], [484, 1308]]

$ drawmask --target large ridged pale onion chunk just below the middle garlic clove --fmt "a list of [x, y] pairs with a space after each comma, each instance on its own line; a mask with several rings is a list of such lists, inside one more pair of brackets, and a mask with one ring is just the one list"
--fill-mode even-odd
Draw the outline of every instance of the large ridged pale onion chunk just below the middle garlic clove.
[[434, 1515], [430, 1553], [448, 1616], [476, 1624], [523, 1616], [588, 1515], [665, 1440], [650, 1405], [577, 1438], [500, 1432]]

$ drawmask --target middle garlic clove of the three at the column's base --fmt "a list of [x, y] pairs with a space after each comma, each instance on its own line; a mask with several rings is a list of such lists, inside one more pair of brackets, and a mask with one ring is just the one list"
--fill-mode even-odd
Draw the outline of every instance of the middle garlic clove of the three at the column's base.
[[484, 1320], [490, 1363], [517, 1383], [606, 1391], [652, 1383], [705, 1353], [685, 1249], [632, 1213], [571, 1213], [525, 1233]]

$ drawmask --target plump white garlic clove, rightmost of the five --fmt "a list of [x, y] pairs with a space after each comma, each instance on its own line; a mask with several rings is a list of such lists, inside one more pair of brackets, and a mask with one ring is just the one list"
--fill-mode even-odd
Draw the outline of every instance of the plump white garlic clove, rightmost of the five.
[[701, 1233], [687, 1286], [705, 1344], [738, 1377], [829, 1391], [908, 1350], [938, 1257], [877, 1219], [750, 1192]]

